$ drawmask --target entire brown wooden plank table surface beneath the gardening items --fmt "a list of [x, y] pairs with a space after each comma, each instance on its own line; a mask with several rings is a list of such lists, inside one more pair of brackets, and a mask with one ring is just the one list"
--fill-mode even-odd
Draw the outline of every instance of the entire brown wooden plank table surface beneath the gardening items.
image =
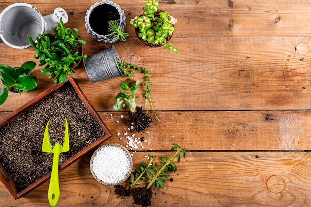
[[[19, 2], [0, 1], [0, 11]], [[124, 10], [131, 34], [113, 45], [122, 60], [150, 70], [151, 94], [162, 120], [152, 116], [149, 133], [141, 133], [147, 143], [134, 153], [134, 168], [148, 153], [172, 156], [172, 143], [188, 152], [171, 174], [173, 182], [153, 190], [152, 206], [311, 206], [311, 1], [159, 0], [159, 8], [178, 20], [171, 39], [177, 54], [137, 40], [129, 21], [139, 15], [143, 0], [113, 1]], [[64, 8], [66, 27], [78, 28], [87, 55], [110, 47], [92, 39], [84, 26], [96, 0], [23, 2], [43, 15]], [[0, 63], [16, 66], [35, 60], [33, 55], [33, 48], [0, 44]], [[39, 69], [33, 71], [38, 87], [10, 94], [0, 106], [0, 118], [53, 85]], [[72, 76], [113, 134], [106, 142], [125, 146], [117, 133], [127, 132], [120, 118], [127, 112], [112, 108], [125, 78], [92, 84], [82, 64], [76, 72]], [[138, 104], [144, 106], [144, 99]], [[132, 198], [117, 198], [114, 187], [92, 177], [91, 155], [60, 173], [57, 206], [135, 206]], [[48, 185], [14, 200], [0, 183], [0, 206], [49, 206]]]

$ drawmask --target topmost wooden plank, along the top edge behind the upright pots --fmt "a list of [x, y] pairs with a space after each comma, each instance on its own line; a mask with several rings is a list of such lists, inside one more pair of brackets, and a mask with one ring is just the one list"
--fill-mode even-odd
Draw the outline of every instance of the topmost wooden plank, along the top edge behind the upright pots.
[[[68, 25], [74, 25], [86, 33], [84, 16], [89, 7], [98, 0], [79, 1], [74, 5], [60, 2], [69, 13]], [[12, 1], [2, 0], [0, 9]], [[55, 4], [44, 0], [33, 2], [43, 15], [53, 12]], [[115, 0], [124, 10], [128, 28], [127, 32], [135, 37], [129, 20], [138, 16], [145, 6], [143, 0]], [[306, 36], [311, 33], [311, 2], [309, 0], [159, 0], [159, 8], [168, 11], [177, 18], [174, 37], [277, 37]]]

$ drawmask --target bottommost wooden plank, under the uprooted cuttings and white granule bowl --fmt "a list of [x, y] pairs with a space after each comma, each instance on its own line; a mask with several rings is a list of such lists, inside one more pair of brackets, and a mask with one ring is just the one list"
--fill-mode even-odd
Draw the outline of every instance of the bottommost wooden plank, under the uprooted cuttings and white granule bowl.
[[[146, 153], [133, 156], [134, 166]], [[157, 157], [173, 153], [153, 152]], [[89, 170], [90, 155], [60, 173], [60, 206], [131, 206], [112, 186], [98, 183]], [[282, 206], [311, 205], [309, 152], [188, 152], [171, 173], [173, 182], [153, 189], [152, 206]], [[1, 206], [48, 206], [44, 183], [14, 201], [0, 184]]]

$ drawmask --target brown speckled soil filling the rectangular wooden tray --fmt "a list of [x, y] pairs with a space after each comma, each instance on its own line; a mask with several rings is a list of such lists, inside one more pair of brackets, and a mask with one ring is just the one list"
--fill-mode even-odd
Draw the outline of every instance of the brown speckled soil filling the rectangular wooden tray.
[[53, 153], [42, 152], [45, 126], [50, 119], [52, 145], [63, 143], [65, 117], [68, 120], [70, 150], [60, 154], [62, 163], [104, 135], [68, 82], [0, 129], [0, 161], [19, 190], [51, 171]]

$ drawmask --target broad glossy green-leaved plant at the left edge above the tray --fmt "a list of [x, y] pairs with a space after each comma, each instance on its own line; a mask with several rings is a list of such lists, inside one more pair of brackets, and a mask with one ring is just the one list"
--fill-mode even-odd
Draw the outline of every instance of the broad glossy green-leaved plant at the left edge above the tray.
[[0, 64], [0, 78], [4, 86], [0, 88], [0, 105], [6, 101], [9, 91], [22, 93], [37, 87], [38, 78], [30, 75], [36, 65], [33, 61], [27, 61], [20, 67], [14, 68], [6, 64]]

